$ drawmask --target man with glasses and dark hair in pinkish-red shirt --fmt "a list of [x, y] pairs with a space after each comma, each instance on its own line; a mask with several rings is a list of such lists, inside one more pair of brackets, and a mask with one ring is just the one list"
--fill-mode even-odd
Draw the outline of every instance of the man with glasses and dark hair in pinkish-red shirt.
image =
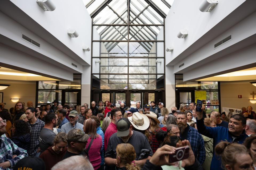
[[105, 151], [107, 150], [107, 144], [109, 142], [109, 138], [111, 137], [111, 135], [113, 135], [114, 133], [117, 132], [117, 121], [123, 117], [123, 115], [119, 109], [111, 110], [110, 116], [111, 116], [111, 123], [107, 127], [105, 134], [104, 134], [104, 149], [105, 149]]

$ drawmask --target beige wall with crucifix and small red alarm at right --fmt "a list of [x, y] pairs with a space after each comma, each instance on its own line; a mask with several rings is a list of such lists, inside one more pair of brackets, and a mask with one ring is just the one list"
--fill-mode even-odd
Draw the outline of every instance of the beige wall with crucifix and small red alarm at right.
[[[253, 111], [256, 110], [256, 104], [249, 101], [253, 97], [250, 94], [253, 91], [256, 93], [256, 87], [250, 82], [221, 82], [220, 88], [221, 107], [241, 109], [242, 107], [252, 106]], [[242, 95], [242, 98], [238, 98], [238, 95]], [[256, 99], [256, 95], [254, 97]]]

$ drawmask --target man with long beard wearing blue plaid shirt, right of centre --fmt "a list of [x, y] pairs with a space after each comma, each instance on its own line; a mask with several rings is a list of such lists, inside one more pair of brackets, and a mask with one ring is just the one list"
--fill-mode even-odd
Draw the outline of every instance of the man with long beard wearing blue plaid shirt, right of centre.
[[195, 128], [187, 124], [187, 115], [184, 112], [179, 112], [176, 116], [177, 126], [180, 130], [181, 141], [187, 139], [190, 142], [195, 158], [202, 165], [205, 161], [205, 144], [202, 135]]

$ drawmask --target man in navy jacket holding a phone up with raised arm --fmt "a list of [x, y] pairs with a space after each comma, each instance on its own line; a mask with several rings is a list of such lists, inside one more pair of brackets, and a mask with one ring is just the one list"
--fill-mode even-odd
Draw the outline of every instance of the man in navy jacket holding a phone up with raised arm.
[[[215, 128], [206, 127], [203, 122], [202, 112], [197, 112], [197, 129], [198, 132], [202, 135], [205, 135], [209, 138], [213, 138], [213, 147], [221, 142], [236, 142], [242, 144], [243, 141], [248, 137], [245, 134], [246, 127], [246, 118], [240, 114], [234, 114], [230, 117], [228, 128], [224, 128], [222, 126], [218, 126]], [[214, 151], [213, 151], [214, 152]], [[222, 169], [221, 168], [221, 159], [215, 155], [213, 155], [213, 159], [211, 160], [211, 170]]]

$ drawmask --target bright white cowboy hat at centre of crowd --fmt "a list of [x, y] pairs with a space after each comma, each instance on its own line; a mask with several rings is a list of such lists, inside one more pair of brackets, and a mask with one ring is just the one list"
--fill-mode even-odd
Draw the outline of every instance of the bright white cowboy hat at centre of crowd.
[[149, 128], [149, 118], [145, 114], [135, 112], [133, 116], [128, 117], [128, 119], [133, 127], [138, 130], [146, 130]]

